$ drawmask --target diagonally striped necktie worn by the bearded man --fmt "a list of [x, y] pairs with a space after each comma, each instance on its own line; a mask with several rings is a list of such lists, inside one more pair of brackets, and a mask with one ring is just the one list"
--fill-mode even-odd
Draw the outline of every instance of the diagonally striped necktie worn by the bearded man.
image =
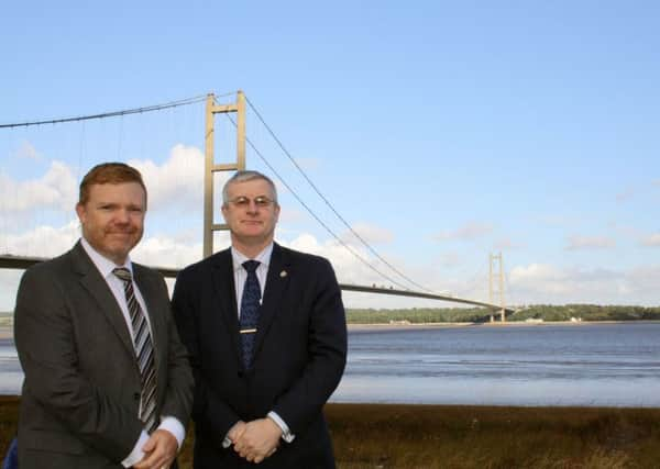
[[133, 327], [133, 346], [138, 357], [138, 367], [142, 378], [142, 392], [140, 397], [140, 420], [144, 423], [147, 433], [152, 433], [158, 426], [156, 415], [156, 366], [154, 364], [154, 346], [152, 344], [148, 324], [138, 299], [133, 291], [133, 279], [131, 271], [124, 267], [112, 270], [120, 280], [124, 282], [127, 305], [131, 315]]

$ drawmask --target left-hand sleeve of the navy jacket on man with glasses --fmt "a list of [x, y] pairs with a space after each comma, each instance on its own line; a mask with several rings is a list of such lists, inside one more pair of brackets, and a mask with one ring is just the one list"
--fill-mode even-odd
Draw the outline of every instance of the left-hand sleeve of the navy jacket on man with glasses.
[[222, 442], [229, 429], [240, 420], [239, 415], [220, 399], [208, 386], [201, 372], [202, 357], [198, 340], [198, 317], [200, 311], [199, 287], [195, 273], [184, 270], [177, 277], [172, 308], [182, 342], [188, 349], [195, 392], [193, 399], [193, 420], [198, 431], [212, 435], [213, 443], [222, 448]]

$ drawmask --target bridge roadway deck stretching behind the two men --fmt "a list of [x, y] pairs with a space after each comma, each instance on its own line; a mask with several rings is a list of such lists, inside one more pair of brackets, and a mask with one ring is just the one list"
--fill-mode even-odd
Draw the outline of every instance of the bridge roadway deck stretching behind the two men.
[[[30, 266], [38, 263], [48, 260], [44, 257], [28, 257], [28, 256], [12, 256], [12, 255], [0, 255], [0, 269], [26, 269]], [[168, 267], [152, 267], [160, 271], [164, 277], [176, 278], [179, 269], [173, 269]], [[339, 287], [343, 291], [358, 291], [363, 293], [376, 293], [376, 294], [392, 294], [395, 297], [410, 297], [410, 298], [425, 298], [429, 300], [449, 301], [452, 303], [471, 304], [473, 306], [487, 308], [494, 311], [501, 311], [502, 306], [498, 304], [491, 304], [483, 301], [469, 300], [465, 298], [452, 297], [449, 294], [435, 294], [425, 293], [421, 291], [413, 290], [398, 290], [394, 288], [382, 288], [382, 287], [366, 287], [359, 284], [340, 283]], [[512, 309], [505, 309], [506, 314], [514, 312]]]

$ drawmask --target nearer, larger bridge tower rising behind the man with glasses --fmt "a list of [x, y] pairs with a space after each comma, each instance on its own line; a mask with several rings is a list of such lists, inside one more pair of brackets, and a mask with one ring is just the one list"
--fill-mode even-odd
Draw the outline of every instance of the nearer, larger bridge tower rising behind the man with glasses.
[[[237, 160], [218, 165], [215, 150], [215, 116], [220, 113], [237, 113]], [[230, 104], [216, 104], [216, 96], [207, 94], [206, 133], [205, 133], [205, 174], [204, 174], [204, 257], [213, 254], [213, 232], [227, 231], [224, 223], [213, 223], [213, 176], [219, 171], [238, 171], [245, 169], [245, 94], [239, 90], [237, 101]]]

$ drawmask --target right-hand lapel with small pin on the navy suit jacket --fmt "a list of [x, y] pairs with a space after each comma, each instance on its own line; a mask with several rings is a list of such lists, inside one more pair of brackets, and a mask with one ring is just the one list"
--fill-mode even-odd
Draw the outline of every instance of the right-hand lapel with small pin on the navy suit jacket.
[[254, 356], [258, 354], [264, 337], [271, 328], [273, 319], [282, 308], [282, 297], [286, 291], [290, 278], [290, 261], [286, 250], [278, 244], [273, 245], [273, 254], [268, 264], [268, 275], [266, 278], [266, 289], [262, 306], [260, 309], [258, 325], [256, 327], [256, 338], [254, 343]]

